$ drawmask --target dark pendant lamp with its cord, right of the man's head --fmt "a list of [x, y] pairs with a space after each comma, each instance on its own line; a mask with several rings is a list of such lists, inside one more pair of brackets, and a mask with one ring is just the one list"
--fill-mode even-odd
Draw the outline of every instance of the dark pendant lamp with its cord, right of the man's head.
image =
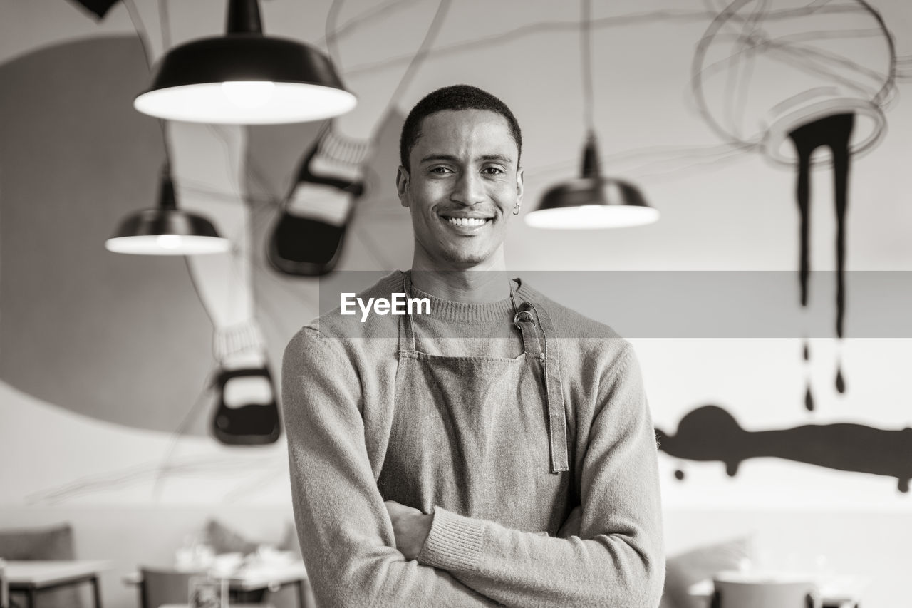
[[636, 185], [601, 174], [593, 111], [590, 11], [591, 0], [583, 0], [580, 48], [587, 135], [582, 176], [559, 183], [544, 193], [538, 208], [525, 215], [525, 223], [536, 228], [610, 228], [658, 220], [658, 210], [649, 206]]

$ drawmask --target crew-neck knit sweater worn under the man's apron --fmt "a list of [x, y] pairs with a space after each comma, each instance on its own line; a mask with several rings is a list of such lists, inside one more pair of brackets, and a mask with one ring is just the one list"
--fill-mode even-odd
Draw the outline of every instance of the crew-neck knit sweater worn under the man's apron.
[[[401, 291], [393, 273], [358, 297]], [[336, 309], [288, 344], [282, 385], [295, 521], [321, 608], [658, 605], [665, 561], [657, 449], [637, 359], [605, 325], [524, 284], [517, 293], [548, 310], [558, 336], [548, 348], [559, 350], [570, 470], [551, 475], [569, 476], [567, 497], [552, 501], [560, 511], [544, 524], [516, 515], [541, 502], [534, 486], [513, 485], [513, 500], [489, 506], [484, 518], [459, 506], [410, 505], [433, 513], [414, 561], [396, 550], [389, 497], [378, 489], [396, 409], [400, 317], [361, 322]], [[418, 351], [523, 352], [511, 299], [467, 304], [416, 288], [412, 295], [430, 299], [430, 315], [412, 316]]]

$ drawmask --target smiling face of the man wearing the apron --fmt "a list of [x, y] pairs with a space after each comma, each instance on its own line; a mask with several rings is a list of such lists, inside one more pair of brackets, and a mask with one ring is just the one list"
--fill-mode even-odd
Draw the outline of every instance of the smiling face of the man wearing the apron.
[[409, 207], [415, 256], [438, 268], [503, 259], [506, 221], [523, 201], [519, 150], [506, 119], [489, 110], [442, 110], [426, 117], [399, 167], [399, 200]]

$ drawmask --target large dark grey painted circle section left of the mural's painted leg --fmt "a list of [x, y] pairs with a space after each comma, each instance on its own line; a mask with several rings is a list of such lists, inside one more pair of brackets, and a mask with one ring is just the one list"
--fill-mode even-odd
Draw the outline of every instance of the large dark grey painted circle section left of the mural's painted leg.
[[[181, 257], [104, 241], [155, 202], [156, 122], [135, 37], [45, 47], [0, 66], [0, 377], [78, 414], [171, 432], [212, 371], [212, 325]], [[207, 399], [185, 433], [205, 435]]]

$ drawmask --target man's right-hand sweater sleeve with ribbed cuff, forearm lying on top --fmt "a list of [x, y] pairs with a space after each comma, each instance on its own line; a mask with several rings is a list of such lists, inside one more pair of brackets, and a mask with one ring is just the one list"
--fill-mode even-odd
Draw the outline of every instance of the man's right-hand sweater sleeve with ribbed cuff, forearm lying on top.
[[655, 431], [627, 346], [581, 446], [581, 505], [561, 535], [434, 509], [420, 563], [508, 606], [655, 608], [665, 578]]

